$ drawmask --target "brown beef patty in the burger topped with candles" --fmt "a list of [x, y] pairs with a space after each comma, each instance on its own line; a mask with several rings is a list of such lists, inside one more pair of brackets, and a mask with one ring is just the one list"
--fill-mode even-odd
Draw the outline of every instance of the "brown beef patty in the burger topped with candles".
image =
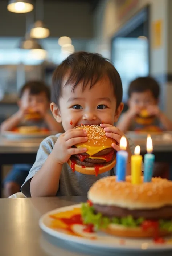
[[100, 204], [93, 204], [95, 212], [100, 212], [103, 216], [109, 218], [113, 217], [126, 217], [131, 215], [134, 219], [139, 217], [147, 220], [171, 220], [172, 219], [172, 206], [164, 206], [158, 209], [142, 209], [142, 210], [129, 210], [127, 208], [121, 208], [117, 206], [105, 206]]

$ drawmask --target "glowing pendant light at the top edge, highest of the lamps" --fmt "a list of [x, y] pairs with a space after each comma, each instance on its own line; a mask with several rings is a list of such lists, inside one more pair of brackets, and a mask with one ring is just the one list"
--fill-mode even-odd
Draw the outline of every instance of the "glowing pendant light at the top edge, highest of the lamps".
[[33, 4], [30, 0], [9, 0], [7, 10], [16, 13], [31, 12], [33, 10]]

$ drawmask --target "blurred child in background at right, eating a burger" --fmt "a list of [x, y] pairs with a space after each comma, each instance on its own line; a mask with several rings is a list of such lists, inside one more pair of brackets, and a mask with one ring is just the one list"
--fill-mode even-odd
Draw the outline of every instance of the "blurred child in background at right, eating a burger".
[[[127, 131], [158, 132], [172, 130], [172, 122], [159, 109], [159, 84], [151, 77], [139, 77], [128, 88], [128, 110], [117, 126]], [[163, 176], [168, 163], [156, 163], [154, 176]]]

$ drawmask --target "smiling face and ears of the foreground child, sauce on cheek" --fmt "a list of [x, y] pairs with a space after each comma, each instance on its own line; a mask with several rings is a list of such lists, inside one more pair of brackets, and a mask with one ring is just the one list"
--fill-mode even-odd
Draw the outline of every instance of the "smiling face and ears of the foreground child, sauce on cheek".
[[88, 84], [82, 92], [78, 84], [72, 92], [72, 87], [62, 88], [59, 99], [59, 109], [51, 104], [51, 110], [57, 122], [62, 122], [67, 131], [77, 125], [99, 125], [108, 123], [114, 125], [123, 109], [123, 103], [116, 110], [116, 98], [108, 79], [98, 81], [91, 89]]

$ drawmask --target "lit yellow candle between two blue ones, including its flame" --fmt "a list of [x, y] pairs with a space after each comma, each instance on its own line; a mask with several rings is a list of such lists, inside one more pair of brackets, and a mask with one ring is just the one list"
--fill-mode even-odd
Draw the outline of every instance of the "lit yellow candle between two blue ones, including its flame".
[[136, 146], [134, 155], [131, 156], [131, 180], [132, 184], [141, 183], [142, 156], [140, 155], [140, 146]]

